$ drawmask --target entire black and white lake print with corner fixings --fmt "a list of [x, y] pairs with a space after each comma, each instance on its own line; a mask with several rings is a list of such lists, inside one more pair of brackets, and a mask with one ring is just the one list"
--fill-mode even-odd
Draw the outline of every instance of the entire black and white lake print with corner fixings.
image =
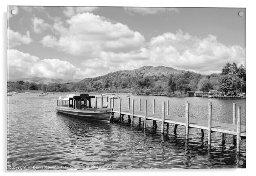
[[7, 6], [7, 171], [246, 168], [245, 19]]

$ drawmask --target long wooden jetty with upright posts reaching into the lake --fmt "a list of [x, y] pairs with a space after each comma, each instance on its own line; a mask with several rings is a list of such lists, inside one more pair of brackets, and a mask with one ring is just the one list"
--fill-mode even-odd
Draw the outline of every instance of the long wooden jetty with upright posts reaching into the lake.
[[[113, 99], [113, 101], [111, 100]], [[167, 130], [169, 130], [169, 124], [174, 124], [174, 133], [176, 133], [177, 126], [185, 126], [185, 139], [189, 138], [189, 129], [196, 128], [201, 129], [202, 137], [204, 137], [204, 130], [208, 131], [208, 145], [211, 144], [211, 133], [219, 132], [222, 133], [222, 143], [225, 143], [226, 135], [233, 135], [233, 144], [236, 145], [236, 151], [240, 151], [240, 140], [245, 139], [246, 137], [246, 128], [241, 125], [241, 106], [236, 107], [236, 104], [233, 103], [233, 124], [227, 124], [222, 122], [212, 121], [212, 104], [209, 102], [208, 104], [208, 121], [200, 120], [189, 117], [189, 107], [190, 104], [186, 102], [185, 104], [185, 118], [170, 115], [169, 114], [169, 101], [167, 100], [167, 106], [165, 102], [162, 102], [162, 113], [155, 113], [155, 99], [152, 101], [152, 112], [147, 111], [148, 103], [147, 100], [144, 102], [144, 112], [141, 110], [141, 99], [139, 99], [139, 107], [135, 110], [134, 107], [134, 99], [132, 100], [131, 108], [130, 108], [130, 98], [128, 98], [128, 108], [122, 108], [122, 99], [119, 98], [119, 107], [114, 107], [114, 99], [110, 98], [110, 104], [108, 106], [112, 108], [112, 113], [110, 120], [113, 118], [114, 114], [118, 114], [119, 120], [124, 117], [124, 115], [128, 116], [128, 120], [131, 122], [131, 125], [134, 124], [134, 118], [139, 118], [139, 122], [141, 119], [144, 123], [144, 129], [146, 129], [147, 121], [152, 120], [153, 126], [156, 126], [156, 121], [161, 122], [161, 132], [164, 133], [165, 124], [167, 124]], [[111, 103], [112, 102], [112, 103]], [[166, 112], [166, 113], [165, 113]], [[157, 127], [157, 126], [156, 126]]]

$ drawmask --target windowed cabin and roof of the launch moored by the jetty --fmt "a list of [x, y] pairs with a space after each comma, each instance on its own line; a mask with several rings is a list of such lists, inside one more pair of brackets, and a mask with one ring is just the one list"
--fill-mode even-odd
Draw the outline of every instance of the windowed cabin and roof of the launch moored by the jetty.
[[57, 99], [57, 107], [66, 107], [73, 109], [90, 109], [93, 108], [91, 106], [91, 99], [95, 98], [95, 96], [89, 96], [88, 94], [80, 94], [80, 95], [67, 95], [67, 97], [59, 97]]

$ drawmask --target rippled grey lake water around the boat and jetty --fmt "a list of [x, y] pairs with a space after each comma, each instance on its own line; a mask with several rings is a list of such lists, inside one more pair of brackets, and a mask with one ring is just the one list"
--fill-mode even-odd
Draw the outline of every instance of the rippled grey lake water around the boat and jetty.
[[[212, 144], [207, 144], [207, 131], [201, 139], [200, 129], [190, 129], [185, 142], [185, 127], [178, 126], [177, 135], [162, 135], [161, 124], [154, 129], [152, 121], [147, 129], [134, 119], [134, 126], [127, 116], [120, 123], [85, 121], [56, 113], [57, 97], [64, 93], [37, 97], [36, 93], [19, 93], [9, 96], [7, 135], [7, 169], [170, 169], [170, 168], [245, 168], [245, 140], [241, 152], [236, 153], [233, 136], [212, 133]], [[100, 96], [100, 95], [98, 95]], [[242, 106], [241, 124], [245, 125], [245, 99], [219, 100], [200, 97], [168, 98], [164, 96], [131, 96], [148, 100], [156, 99], [156, 113], [162, 101], [170, 101], [170, 114], [184, 116], [185, 102], [190, 102], [190, 117], [208, 120], [208, 102], [212, 102], [213, 121], [232, 123], [232, 103]], [[98, 99], [100, 104], [101, 99]], [[104, 99], [105, 103], [105, 99]], [[122, 96], [122, 107], [127, 107], [128, 97]], [[118, 106], [118, 100], [115, 100]], [[20, 169], [18, 168], [18, 170]]]

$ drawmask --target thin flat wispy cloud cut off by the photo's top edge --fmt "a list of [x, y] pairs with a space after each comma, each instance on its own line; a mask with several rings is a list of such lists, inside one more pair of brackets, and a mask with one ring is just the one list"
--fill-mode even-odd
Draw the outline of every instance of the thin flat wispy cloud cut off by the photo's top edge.
[[172, 7], [124, 7], [125, 12], [132, 14], [142, 14], [142, 15], [154, 15], [160, 13], [178, 13], [177, 8]]

